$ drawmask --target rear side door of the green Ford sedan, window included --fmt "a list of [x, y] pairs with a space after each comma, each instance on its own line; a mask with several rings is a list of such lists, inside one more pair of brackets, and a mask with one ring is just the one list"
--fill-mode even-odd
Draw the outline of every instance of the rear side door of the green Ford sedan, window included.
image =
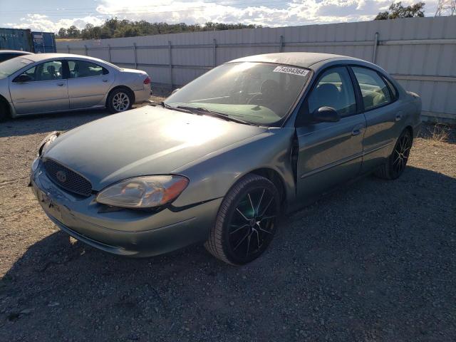
[[[368, 172], [383, 164], [393, 149], [395, 140], [402, 130], [403, 112], [396, 101], [394, 86], [377, 71], [352, 66], [356, 86], [361, 93], [367, 128], [364, 135], [364, 157], [362, 172]], [[392, 87], [392, 88], [390, 88]]]

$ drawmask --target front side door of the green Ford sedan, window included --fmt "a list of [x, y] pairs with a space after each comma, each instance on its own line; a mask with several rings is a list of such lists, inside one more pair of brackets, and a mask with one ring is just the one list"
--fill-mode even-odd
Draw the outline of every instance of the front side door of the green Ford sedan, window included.
[[[353, 83], [345, 66], [324, 71], [303, 105], [299, 115], [304, 118], [296, 120], [297, 197], [301, 204], [358, 175], [366, 130], [366, 119], [358, 113]], [[315, 123], [311, 113], [321, 107], [335, 109], [341, 120]]]

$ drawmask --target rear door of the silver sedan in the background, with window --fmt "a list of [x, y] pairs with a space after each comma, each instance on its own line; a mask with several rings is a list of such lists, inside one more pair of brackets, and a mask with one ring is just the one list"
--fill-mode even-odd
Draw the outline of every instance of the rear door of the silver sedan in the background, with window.
[[113, 72], [92, 61], [68, 60], [70, 108], [104, 105], [103, 100], [115, 80]]

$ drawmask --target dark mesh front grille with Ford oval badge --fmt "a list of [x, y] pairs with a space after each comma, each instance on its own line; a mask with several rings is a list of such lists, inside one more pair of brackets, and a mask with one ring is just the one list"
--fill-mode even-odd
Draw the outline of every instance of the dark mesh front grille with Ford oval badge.
[[47, 159], [44, 160], [44, 168], [48, 177], [56, 185], [63, 187], [63, 189], [86, 197], [92, 193], [90, 182], [73, 170], [68, 169], [68, 167]]

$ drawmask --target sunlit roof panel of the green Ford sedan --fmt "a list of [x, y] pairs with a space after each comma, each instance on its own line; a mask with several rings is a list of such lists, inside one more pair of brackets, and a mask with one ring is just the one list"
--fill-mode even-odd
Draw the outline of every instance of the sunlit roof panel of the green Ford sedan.
[[280, 52], [280, 53], [266, 53], [263, 55], [248, 56], [243, 58], [229, 61], [234, 62], [266, 62], [286, 64], [289, 66], [299, 66], [301, 68], [312, 68], [312, 66], [321, 61], [361, 61], [358, 58], [333, 55], [331, 53], [315, 53], [315, 52]]

